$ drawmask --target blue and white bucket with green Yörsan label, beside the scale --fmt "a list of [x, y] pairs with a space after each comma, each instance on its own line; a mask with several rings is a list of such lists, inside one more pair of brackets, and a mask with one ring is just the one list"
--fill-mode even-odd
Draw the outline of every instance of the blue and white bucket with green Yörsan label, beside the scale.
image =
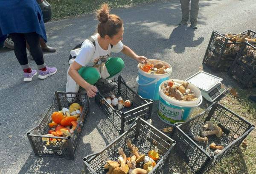
[[[160, 99], [159, 99], [159, 106], [157, 115], [159, 118], [164, 121], [165, 123], [173, 125], [176, 122], [184, 122], [187, 118], [192, 114], [195, 107], [198, 107], [202, 101], [202, 95], [201, 91], [193, 84], [188, 85], [188, 89], [191, 89], [195, 92], [195, 95], [197, 96], [197, 100], [195, 101], [178, 101], [175, 99], [170, 98], [166, 94], [163, 93], [161, 90], [161, 86], [164, 83], [168, 83], [168, 81], [163, 81], [162, 84], [159, 86], [159, 93], [160, 93]], [[174, 80], [177, 83], [182, 84], [183, 80]]]

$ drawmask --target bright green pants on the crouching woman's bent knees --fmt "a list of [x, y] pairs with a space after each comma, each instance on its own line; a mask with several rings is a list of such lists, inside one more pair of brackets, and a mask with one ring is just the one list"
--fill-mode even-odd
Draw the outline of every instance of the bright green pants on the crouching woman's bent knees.
[[[105, 65], [108, 73], [110, 74], [108, 78], [111, 78], [117, 73], [121, 72], [121, 70], [125, 67], [125, 63], [120, 57], [110, 57]], [[89, 84], [96, 84], [100, 78], [99, 71], [97, 71], [94, 67], [81, 67], [78, 73]]]

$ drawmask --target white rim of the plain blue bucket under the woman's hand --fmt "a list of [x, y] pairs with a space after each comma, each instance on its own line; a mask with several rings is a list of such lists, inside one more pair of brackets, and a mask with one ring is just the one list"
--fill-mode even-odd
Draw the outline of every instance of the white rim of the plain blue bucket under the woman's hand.
[[170, 68], [171, 70], [170, 70], [169, 72], [167, 72], [167, 73], [164, 73], [164, 74], [148, 74], [148, 73], [146, 73], [146, 72], [144, 72], [143, 70], [140, 69], [140, 65], [143, 65], [143, 64], [139, 63], [139, 64], [137, 65], [137, 68], [138, 68], [138, 72], [139, 72], [141, 75], [146, 76], [146, 77], [148, 77], [148, 78], [152, 78], [152, 79], [155, 79], [155, 78], [164, 78], [164, 77], [169, 77], [169, 76], [171, 76], [171, 73], [172, 73], [172, 66], [171, 66], [169, 63], [164, 62], [164, 61], [162, 61], [162, 60], [157, 60], [157, 59], [148, 59], [148, 61], [149, 61], [149, 62], [162, 62], [163, 64], [167, 65], [168, 68]]

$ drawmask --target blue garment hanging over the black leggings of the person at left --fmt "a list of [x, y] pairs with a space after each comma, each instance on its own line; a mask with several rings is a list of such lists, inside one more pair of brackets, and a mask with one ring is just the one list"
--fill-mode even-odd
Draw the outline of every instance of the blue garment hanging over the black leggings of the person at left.
[[47, 42], [43, 14], [36, 0], [0, 0], [0, 37], [31, 32]]

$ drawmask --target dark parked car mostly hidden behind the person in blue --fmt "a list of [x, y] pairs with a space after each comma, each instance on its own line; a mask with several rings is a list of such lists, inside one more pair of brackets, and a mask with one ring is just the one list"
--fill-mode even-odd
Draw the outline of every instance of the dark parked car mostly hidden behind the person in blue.
[[[42, 10], [44, 23], [51, 20], [52, 19], [51, 5], [46, 0], [36, 0], [36, 1]], [[14, 43], [12, 42], [12, 39], [9, 36], [7, 36], [6, 40], [4, 41], [4, 46], [10, 49], [14, 49]]]

